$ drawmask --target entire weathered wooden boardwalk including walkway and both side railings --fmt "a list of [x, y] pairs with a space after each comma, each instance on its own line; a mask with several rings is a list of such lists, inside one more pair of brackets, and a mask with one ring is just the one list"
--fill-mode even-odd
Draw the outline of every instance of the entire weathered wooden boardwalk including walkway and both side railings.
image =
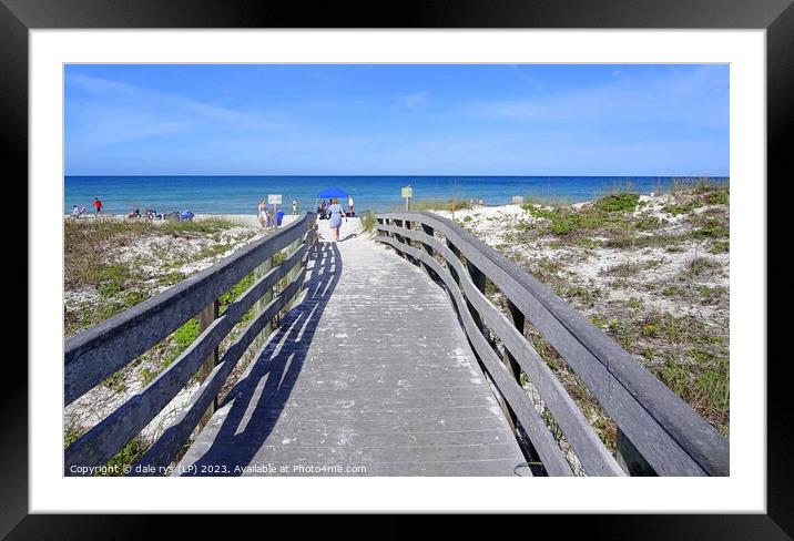
[[[201, 329], [64, 449], [64, 473], [108, 463], [197, 376], [198, 389], [128, 474], [528, 476], [515, 433], [531, 446], [536, 474], [730, 474], [727, 439], [537, 278], [432, 213], [375, 218], [374, 236], [346, 224], [349, 238], [329, 243], [327, 222], [302, 214], [69, 338], [67, 406], [196, 314]], [[221, 313], [220, 298], [252, 273]], [[215, 410], [244, 351], [287, 308]], [[614, 450], [527, 340], [527, 324], [609, 416]]]

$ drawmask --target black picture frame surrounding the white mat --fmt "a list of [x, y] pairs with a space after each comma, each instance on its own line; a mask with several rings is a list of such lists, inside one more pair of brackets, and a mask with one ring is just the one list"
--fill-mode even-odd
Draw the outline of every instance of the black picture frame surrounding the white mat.
[[[32, 29], [122, 28], [586, 28], [586, 29], [766, 29], [767, 178], [783, 184], [785, 144], [794, 125], [794, 6], [792, 0], [558, 0], [558, 1], [401, 1], [369, 8], [335, 2], [248, 0], [0, 0], [0, 133], [3, 166], [28, 175], [28, 31]], [[767, 181], [767, 186], [768, 186]], [[767, 201], [768, 197], [767, 197]], [[29, 203], [30, 204], [30, 203]], [[767, 215], [772, 216], [767, 207]], [[771, 231], [771, 228], [770, 228]], [[768, 243], [767, 243], [768, 246]], [[27, 254], [28, 247], [21, 252]], [[20, 261], [26, 261], [20, 257]], [[24, 264], [27, 270], [27, 263]], [[28, 289], [35, 287], [27, 278]], [[19, 295], [19, 293], [17, 294]], [[27, 303], [18, 302], [17, 306]], [[19, 320], [22, 320], [19, 317]], [[27, 321], [27, 318], [26, 318]], [[772, 321], [770, 321], [772, 323]], [[768, 336], [768, 331], [767, 331]], [[18, 357], [17, 357], [18, 359]], [[7, 357], [0, 392], [0, 538], [143, 539], [150, 518], [140, 516], [29, 514], [28, 372]], [[765, 359], [764, 359], [765, 360]], [[787, 356], [767, 370], [767, 514], [576, 516], [521, 519], [526, 528], [576, 527], [609, 539], [791, 539], [794, 534], [792, 408], [785, 398]], [[16, 374], [13, 370], [16, 368]], [[222, 494], [218, 494], [221, 498]], [[294, 518], [293, 518], [294, 519]], [[315, 524], [327, 528], [328, 518]], [[312, 525], [301, 522], [301, 528]], [[519, 521], [513, 521], [519, 522]], [[182, 520], [183, 534], [207, 532], [208, 517]], [[226, 522], [227, 524], [227, 522]], [[482, 524], [482, 522], [480, 522]], [[240, 528], [240, 530], [237, 530]], [[235, 525], [233, 531], [245, 531]], [[456, 520], [470, 531], [470, 522]], [[395, 518], [379, 521], [379, 537], [405, 538]], [[234, 534], [234, 533], [233, 533]]]

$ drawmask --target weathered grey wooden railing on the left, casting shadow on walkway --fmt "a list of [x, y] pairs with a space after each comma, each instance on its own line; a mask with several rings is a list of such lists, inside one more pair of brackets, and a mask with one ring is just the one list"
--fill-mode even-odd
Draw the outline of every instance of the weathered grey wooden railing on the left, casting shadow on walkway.
[[[200, 316], [201, 334], [163, 372], [64, 450], [65, 473], [73, 466], [99, 467], [138, 436], [191, 379], [202, 384], [176, 420], [145, 452], [133, 473], [162, 474], [176, 458], [223, 384], [254, 340], [262, 341], [271, 321], [301, 293], [307, 261], [316, 245], [316, 214], [302, 214], [277, 233], [261, 238], [162, 294], [65, 341], [65, 406], [124, 368]], [[275, 261], [276, 254], [284, 259]], [[246, 275], [254, 284], [218, 316], [218, 297]], [[286, 282], [281, 290], [274, 290]], [[218, 359], [221, 341], [256, 305], [257, 315]], [[145, 467], [145, 468], [144, 468]]]

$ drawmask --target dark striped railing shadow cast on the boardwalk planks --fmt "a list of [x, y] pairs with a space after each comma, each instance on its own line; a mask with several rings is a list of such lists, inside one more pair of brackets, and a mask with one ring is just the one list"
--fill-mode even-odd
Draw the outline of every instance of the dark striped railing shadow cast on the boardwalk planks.
[[[339, 276], [342, 257], [335, 243], [317, 244], [305, 297], [284, 317], [281, 327], [257, 353], [245, 377], [228, 392], [221, 408], [228, 407], [212, 445], [190, 471], [212, 476], [240, 476], [273, 431], [303, 369], [320, 316]], [[257, 388], [265, 380], [262, 391]], [[252, 404], [256, 400], [255, 404]], [[206, 429], [211, 429], [207, 427]], [[205, 429], [205, 430], [206, 430]], [[225, 468], [224, 468], [225, 467]]]

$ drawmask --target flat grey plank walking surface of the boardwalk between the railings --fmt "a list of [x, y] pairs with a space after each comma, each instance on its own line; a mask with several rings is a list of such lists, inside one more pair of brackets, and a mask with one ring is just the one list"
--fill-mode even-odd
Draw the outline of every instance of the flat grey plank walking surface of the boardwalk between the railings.
[[175, 474], [513, 476], [525, 460], [444, 289], [354, 236], [318, 244], [303, 299]]

